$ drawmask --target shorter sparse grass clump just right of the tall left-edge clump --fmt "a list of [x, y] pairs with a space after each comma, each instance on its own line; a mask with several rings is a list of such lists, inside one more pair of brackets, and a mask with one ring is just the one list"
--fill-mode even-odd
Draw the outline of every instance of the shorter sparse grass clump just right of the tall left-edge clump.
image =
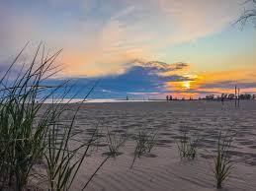
[[75, 116], [71, 120], [71, 124], [61, 127], [61, 129], [58, 127], [59, 123], [52, 124], [47, 133], [47, 148], [44, 159], [46, 160], [50, 190], [69, 190], [82, 161], [88, 154], [89, 148], [96, 140], [97, 129], [95, 129], [88, 142], [77, 146], [69, 144], [75, 136], [71, 131]]

